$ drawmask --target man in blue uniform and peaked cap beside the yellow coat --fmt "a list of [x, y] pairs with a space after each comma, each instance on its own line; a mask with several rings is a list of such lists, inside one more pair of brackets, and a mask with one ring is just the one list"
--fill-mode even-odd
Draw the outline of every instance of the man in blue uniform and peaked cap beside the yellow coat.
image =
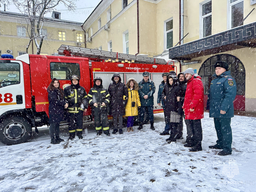
[[[154, 105], [154, 96], [153, 94], [156, 91], [156, 86], [153, 81], [149, 79], [149, 72], [143, 72], [143, 79], [139, 83], [139, 95], [140, 95], [140, 126], [138, 130], [143, 128], [143, 122], [146, 120], [146, 117], [149, 116], [150, 129], [155, 130], [154, 127], [154, 114], [153, 114], [153, 105]], [[147, 115], [146, 115], [147, 112]]]

